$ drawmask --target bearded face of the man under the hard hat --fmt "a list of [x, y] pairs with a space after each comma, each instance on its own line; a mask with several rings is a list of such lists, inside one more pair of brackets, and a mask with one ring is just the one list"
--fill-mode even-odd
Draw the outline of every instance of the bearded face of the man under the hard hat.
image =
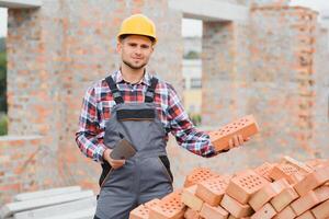
[[117, 43], [116, 50], [125, 65], [138, 70], [147, 65], [154, 45], [147, 36], [129, 35]]

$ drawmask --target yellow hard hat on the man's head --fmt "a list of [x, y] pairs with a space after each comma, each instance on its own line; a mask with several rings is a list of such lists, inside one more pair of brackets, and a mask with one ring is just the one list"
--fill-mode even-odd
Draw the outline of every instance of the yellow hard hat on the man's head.
[[157, 42], [155, 23], [143, 14], [134, 14], [122, 22], [117, 38], [125, 34], [149, 36]]

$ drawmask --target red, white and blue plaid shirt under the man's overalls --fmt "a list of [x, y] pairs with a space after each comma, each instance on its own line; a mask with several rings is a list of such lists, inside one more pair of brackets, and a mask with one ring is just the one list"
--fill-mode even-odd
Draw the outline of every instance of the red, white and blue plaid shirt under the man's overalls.
[[[125, 102], [144, 102], [150, 76], [146, 72], [140, 82], [125, 82], [121, 71], [112, 74]], [[158, 115], [168, 134], [171, 132], [178, 143], [189, 151], [208, 157], [214, 154], [209, 136], [197, 131], [189, 119], [174, 89], [159, 80], [155, 91], [155, 103]], [[79, 118], [79, 130], [76, 141], [80, 150], [94, 161], [102, 162], [106, 147], [103, 143], [105, 122], [111, 117], [111, 108], [115, 105], [111, 90], [105, 80], [100, 80], [90, 87], [83, 97]]]

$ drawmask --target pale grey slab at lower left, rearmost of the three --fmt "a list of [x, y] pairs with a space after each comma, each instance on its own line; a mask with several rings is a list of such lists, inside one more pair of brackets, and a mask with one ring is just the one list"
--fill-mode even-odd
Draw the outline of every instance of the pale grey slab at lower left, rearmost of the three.
[[48, 196], [63, 195], [63, 194], [68, 194], [68, 193], [73, 193], [79, 191], [81, 191], [80, 186], [68, 186], [68, 187], [37, 191], [32, 193], [21, 193], [14, 196], [14, 200], [29, 200], [33, 198], [44, 198]]

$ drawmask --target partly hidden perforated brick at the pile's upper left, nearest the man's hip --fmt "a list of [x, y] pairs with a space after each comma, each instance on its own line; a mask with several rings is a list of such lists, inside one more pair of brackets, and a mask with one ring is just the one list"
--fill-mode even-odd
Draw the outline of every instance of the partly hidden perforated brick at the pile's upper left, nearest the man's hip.
[[218, 177], [219, 174], [211, 171], [207, 168], [196, 168], [191, 173], [189, 173], [185, 177], [184, 187], [190, 187], [195, 185], [202, 181]]

